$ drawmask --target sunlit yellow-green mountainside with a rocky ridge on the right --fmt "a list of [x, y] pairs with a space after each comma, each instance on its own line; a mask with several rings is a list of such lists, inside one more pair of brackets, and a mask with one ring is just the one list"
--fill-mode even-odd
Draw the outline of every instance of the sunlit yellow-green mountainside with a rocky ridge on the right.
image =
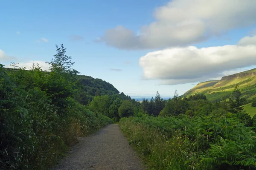
[[183, 94], [183, 96], [203, 93], [210, 101], [215, 102], [221, 100], [222, 97], [229, 96], [236, 84], [239, 85], [243, 97], [246, 99], [252, 99], [255, 97], [256, 68], [222, 77], [221, 80], [198, 83], [195, 87]]

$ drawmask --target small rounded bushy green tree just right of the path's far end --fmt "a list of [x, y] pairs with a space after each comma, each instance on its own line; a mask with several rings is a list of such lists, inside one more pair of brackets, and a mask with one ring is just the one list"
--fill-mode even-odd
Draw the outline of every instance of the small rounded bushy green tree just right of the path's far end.
[[130, 100], [123, 100], [121, 106], [118, 109], [120, 118], [129, 117], [134, 115], [134, 105]]

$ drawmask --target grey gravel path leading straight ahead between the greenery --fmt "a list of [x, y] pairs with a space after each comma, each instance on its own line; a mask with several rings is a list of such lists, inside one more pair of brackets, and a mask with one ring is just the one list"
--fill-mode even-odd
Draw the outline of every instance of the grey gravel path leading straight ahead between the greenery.
[[79, 144], [53, 170], [144, 170], [122, 135], [119, 125], [108, 125]]

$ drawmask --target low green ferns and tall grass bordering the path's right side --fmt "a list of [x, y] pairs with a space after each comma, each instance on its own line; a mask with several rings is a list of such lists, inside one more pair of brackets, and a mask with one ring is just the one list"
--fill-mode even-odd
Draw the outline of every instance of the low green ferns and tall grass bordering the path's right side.
[[150, 169], [256, 169], [255, 132], [232, 118], [143, 116], [119, 125]]

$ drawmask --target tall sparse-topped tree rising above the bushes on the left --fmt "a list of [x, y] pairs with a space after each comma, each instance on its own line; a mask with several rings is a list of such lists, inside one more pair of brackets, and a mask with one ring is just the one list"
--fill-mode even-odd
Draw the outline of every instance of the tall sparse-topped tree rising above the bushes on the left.
[[72, 69], [74, 62], [71, 62], [71, 56], [65, 55], [66, 48], [63, 44], [61, 47], [56, 45], [56, 54], [50, 62], [50, 74], [46, 84], [42, 86], [41, 90], [46, 91], [52, 103], [56, 105], [58, 113], [62, 114], [62, 109], [67, 108], [68, 97], [73, 96], [76, 89], [76, 75], [78, 71]]

